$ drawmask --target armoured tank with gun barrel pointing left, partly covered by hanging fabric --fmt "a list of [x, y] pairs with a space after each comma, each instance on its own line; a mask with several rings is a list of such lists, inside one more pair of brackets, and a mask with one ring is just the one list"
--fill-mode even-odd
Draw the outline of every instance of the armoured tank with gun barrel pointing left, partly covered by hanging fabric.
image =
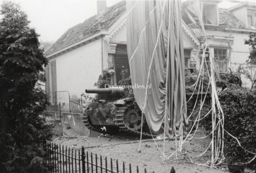
[[[199, 85], [198, 87], [194, 88], [194, 83], [196, 83], [198, 75], [191, 72], [191, 69], [188, 69], [188, 71], [190, 73], [185, 77], [187, 100], [186, 107], [188, 117], [194, 109], [196, 111], [192, 113], [190, 120], [188, 121], [188, 126], [186, 126], [186, 131], [190, 131], [193, 127], [193, 120], [195, 120], [197, 117], [197, 110], [200, 107], [201, 98], [206, 96], [206, 109], [208, 109], [207, 106], [210, 106], [211, 102], [210, 88], [209, 90], [206, 90], [208, 87], [209, 79], [204, 78], [203, 90], [199, 87]], [[241, 85], [241, 79], [233, 74], [222, 73], [220, 74], [220, 81], [216, 82], [217, 89], [218, 91], [225, 90], [225, 88], [232, 83], [233, 85]], [[122, 80], [121, 84], [131, 85], [130, 77]], [[129, 92], [130, 91], [133, 93], [132, 89], [130, 89]], [[134, 99], [134, 95], [127, 94], [126, 89], [122, 90], [121, 88], [97, 88], [90, 90], [87, 89], [86, 93], [94, 93], [103, 96], [98, 98], [97, 101], [93, 102], [92, 104], [87, 105], [87, 110], [83, 114], [83, 121], [87, 128], [92, 129], [93, 131], [107, 134], [140, 134], [143, 123], [143, 136], [151, 137], [150, 129], [148, 128], [145, 116], [143, 116], [144, 118], [142, 120], [142, 111], [138, 107]], [[111, 109], [111, 111], [108, 111], [109, 109]], [[194, 126], [194, 128], [195, 127], [196, 126]], [[153, 136], [158, 136], [158, 134], [161, 133], [162, 129], [158, 133], [153, 134]]]

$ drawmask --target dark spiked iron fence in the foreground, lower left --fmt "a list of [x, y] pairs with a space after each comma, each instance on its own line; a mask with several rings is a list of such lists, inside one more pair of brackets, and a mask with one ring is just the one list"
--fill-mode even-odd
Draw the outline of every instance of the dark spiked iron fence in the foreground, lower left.
[[[49, 172], [139, 172], [138, 166], [132, 167], [130, 163], [124, 162], [120, 164], [118, 160], [86, 152], [84, 147], [74, 149], [52, 142], [47, 142], [44, 147], [47, 151], [46, 164]], [[146, 173], [146, 168], [142, 172]]]

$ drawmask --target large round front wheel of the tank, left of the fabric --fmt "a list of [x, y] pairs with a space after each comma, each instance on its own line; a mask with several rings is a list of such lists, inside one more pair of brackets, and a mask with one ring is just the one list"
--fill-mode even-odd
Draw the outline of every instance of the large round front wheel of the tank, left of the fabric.
[[[144, 122], [145, 118], [143, 118]], [[138, 107], [135, 109], [127, 108], [126, 112], [124, 112], [124, 125], [132, 131], [138, 131], [142, 128], [142, 112]]]

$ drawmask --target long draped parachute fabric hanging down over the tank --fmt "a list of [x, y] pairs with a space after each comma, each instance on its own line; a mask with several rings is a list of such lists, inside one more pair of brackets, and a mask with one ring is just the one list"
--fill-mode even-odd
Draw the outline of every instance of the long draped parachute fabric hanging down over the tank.
[[[180, 1], [127, 1], [127, 50], [134, 96], [153, 133], [181, 136], [186, 117]], [[169, 134], [170, 135], [170, 134]]]

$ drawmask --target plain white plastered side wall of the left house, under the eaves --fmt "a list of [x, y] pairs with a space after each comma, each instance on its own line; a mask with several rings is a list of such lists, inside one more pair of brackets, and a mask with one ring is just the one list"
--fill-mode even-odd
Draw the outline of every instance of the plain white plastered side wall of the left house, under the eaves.
[[94, 40], [49, 60], [56, 60], [57, 91], [69, 91], [71, 98], [80, 98], [86, 88], [94, 88], [102, 74], [101, 41]]

